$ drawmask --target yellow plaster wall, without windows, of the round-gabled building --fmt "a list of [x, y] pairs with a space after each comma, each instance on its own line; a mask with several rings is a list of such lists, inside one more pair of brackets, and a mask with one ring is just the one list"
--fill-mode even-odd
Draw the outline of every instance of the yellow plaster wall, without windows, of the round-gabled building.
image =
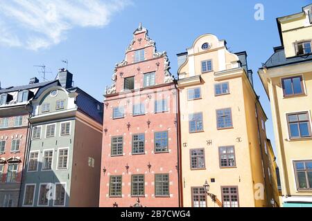
[[[211, 42], [211, 49], [202, 51], [201, 46], [205, 42]], [[181, 116], [181, 143], [182, 143], [182, 191], [184, 206], [191, 206], [191, 187], [202, 186], [205, 180], [209, 182], [210, 193], [214, 193], [222, 202], [221, 186], [238, 186], [239, 206], [266, 206], [266, 198], [255, 200], [254, 184], [262, 183], [263, 170], [261, 166], [261, 147], [259, 146], [257, 118], [255, 114], [256, 96], [252, 91], [245, 71], [236, 67], [238, 57], [227, 52], [223, 41], [218, 41], [214, 35], [202, 35], [188, 49], [187, 61], [179, 69], [180, 91], [180, 116]], [[190, 54], [196, 52], [195, 54]], [[192, 58], [191, 58], [192, 57]], [[190, 68], [191, 59], [194, 61]], [[202, 60], [212, 59], [214, 70], [201, 73]], [[220, 61], [221, 59], [221, 61]], [[225, 69], [223, 69], [225, 68]], [[225, 73], [220, 73], [225, 70]], [[200, 75], [201, 84], [184, 86], [182, 81], [188, 81], [187, 77], [193, 74]], [[214, 95], [214, 84], [223, 81], [229, 82], [228, 95]], [[189, 81], [191, 82], [191, 81]], [[191, 84], [191, 83], [190, 83]], [[187, 89], [200, 87], [201, 99], [188, 101]], [[216, 126], [216, 110], [220, 108], [232, 108], [233, 128], [218, 130]], [[261, 108], [258, 115], [266, 117]], [[202, 112], [204, 132], [189, 133], [189, 114]], [[263, 140], [266, 139], [265, 131]], [[241, 142], [237, 142], [237, 138]], [[207, 140], [212, 145], [207, 145]], [[187, 146], [183, 146], [187, 144]], [[234, 146], [236, 167], [220, 169], [219, 146]], [[191, 170], [190, 149], [205, 148], [206, 169]], [[211, 183], [211, 178], [216, 182]], [[220, 206], [207, 199], [208, 206]]]

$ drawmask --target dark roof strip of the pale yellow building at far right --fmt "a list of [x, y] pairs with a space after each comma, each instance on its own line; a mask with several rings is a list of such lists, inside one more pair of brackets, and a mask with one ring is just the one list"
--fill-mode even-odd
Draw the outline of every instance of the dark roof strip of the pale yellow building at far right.
[[311, 61], [312, 54], [286, 58], [284, 47], [279, 46], [274, 48], [274, 54], [271, 55], [271, 57], [268, 59], [268, 61], [266, 61], [264, 65], [266, 66], [266, 68], [274, 68], [277, 66], [286, 66]]

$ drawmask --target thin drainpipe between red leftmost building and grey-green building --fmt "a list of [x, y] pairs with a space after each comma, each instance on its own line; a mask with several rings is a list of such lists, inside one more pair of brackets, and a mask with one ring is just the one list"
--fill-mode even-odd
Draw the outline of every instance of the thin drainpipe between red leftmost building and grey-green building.
[[[33, 106], [31, 105], [31, 102], [29, 103], [31, 106], [31, 111], [28, 113], [28, 122], [27, 122], [27, 132], [26, 132], [26, 141], [25, 141], [25, 150], [24, 150], [24, 162], [23, 162], [23, 167], [21, 171], [21, 184], [19, 186], [19, 198], [17, 200], [17, 207], [19, 207], [19, 203], [21, 202], [21, 194], [22, 194], [22, 189], [21, 187], [23, 186], [23, 181], [24, 181], [24, 175], [26, 173], [26, 161], [28, 160], [28, 154], [31, 146], [31, 133], [32, 133], [32, 128], [31, 128], [31, 122], [29, 119], [31, 118], [31, 113], [33, 112]], [[27, 105], [25, 105], [26, 109]]]

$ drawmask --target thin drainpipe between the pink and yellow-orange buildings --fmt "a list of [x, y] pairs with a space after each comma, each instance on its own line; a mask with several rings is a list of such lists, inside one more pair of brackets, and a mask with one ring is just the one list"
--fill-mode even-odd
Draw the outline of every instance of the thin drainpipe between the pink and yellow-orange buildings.
[[179, 207], [183, 206], [183, 193], [182, 193], [182, 164], [181, 164], [181, 133], [180, 133], [180, 95], [177, 88], [177, 81], [175, 81], [175, 92], [176, 92], [176, 119], [177, 119], [177, 180], [178, 180], [178, 191], [179, 191]]

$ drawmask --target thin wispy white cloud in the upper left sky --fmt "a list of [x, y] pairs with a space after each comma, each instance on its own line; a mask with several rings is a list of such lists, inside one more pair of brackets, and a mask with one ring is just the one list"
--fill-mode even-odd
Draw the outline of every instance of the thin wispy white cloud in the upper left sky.
[[0, 44], [49, 48], [75, 27], [103, 27], [130, 0], [0, 0]]

